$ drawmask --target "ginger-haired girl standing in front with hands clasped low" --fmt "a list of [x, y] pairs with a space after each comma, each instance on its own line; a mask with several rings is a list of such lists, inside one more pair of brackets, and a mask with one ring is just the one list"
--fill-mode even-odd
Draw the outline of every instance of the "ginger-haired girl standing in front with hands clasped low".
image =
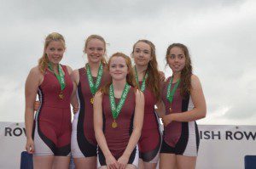
[[110, 83], [95, 96], [94, 129], [99, 168], [137, 168], [137, 142], [143, 127], [143, 93], [134, 87], [131, 59], [122, 53], [108, 62]]

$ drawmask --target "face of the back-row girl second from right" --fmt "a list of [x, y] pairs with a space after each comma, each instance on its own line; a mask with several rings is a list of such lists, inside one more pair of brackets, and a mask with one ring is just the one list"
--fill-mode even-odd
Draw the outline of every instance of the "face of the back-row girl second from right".
[[145, 42], [137, 42], [133, 48], [132, 57], [136, 65], [148, 65], [149, 61], [152, 59], [150, 46]]

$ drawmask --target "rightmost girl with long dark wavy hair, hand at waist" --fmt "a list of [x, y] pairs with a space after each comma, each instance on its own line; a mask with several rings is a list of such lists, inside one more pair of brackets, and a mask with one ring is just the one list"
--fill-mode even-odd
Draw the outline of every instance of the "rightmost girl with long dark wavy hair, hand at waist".
[[167, 65], [172, 69], [162, 87], [165, 104], [163, 142], [160, 149], [160, 168], [194, 169], [199, 148], [196, 120], [204, 118], [207, 104], [201, 82], [192, 73], [188, 48], [173, 43], [166, 51]]

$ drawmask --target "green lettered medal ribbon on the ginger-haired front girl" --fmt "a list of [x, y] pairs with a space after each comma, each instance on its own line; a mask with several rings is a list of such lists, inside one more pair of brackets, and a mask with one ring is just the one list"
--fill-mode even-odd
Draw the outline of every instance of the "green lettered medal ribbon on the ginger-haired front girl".
[[121, 99], [119, 100], [119, 104], [118, 104], [118, 106], [116, 106], [115, 100], [114, 100], [114, 93], [113, 93], [113, 84], [110, 85], [109, 100], [110, 100], [110, 107], [111, 107], [111, 112], [112, 112], [112, 116], [113, 116], [114, 120], [117, 119], [117, 117], [119, 116], [119, 113], [125, 104], [125, 99], [127, 98], [127, 94], [129, 92], [130, 88], [131, 88], [131, 86], [128, 83], [126, 83], [123, 93], [121, 95]]

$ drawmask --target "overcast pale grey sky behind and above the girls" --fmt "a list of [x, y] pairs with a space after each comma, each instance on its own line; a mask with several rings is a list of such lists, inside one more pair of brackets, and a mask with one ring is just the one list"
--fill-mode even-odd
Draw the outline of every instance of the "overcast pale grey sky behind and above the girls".
[[14, 1], [0, 6], [0, 121], [24, 121], [24, 86], [53, 31], [67, 42], [61, 61], [73, 69], [86, 62], [84, 40], [98, 34], [108, 55], [131, 54], [148, 39], [156, 46], [160, 70], [172, 42], [189, 47], [195, 75], [207, 99], [200, 124], [256, 125], [256, 2], [193, 1]]

